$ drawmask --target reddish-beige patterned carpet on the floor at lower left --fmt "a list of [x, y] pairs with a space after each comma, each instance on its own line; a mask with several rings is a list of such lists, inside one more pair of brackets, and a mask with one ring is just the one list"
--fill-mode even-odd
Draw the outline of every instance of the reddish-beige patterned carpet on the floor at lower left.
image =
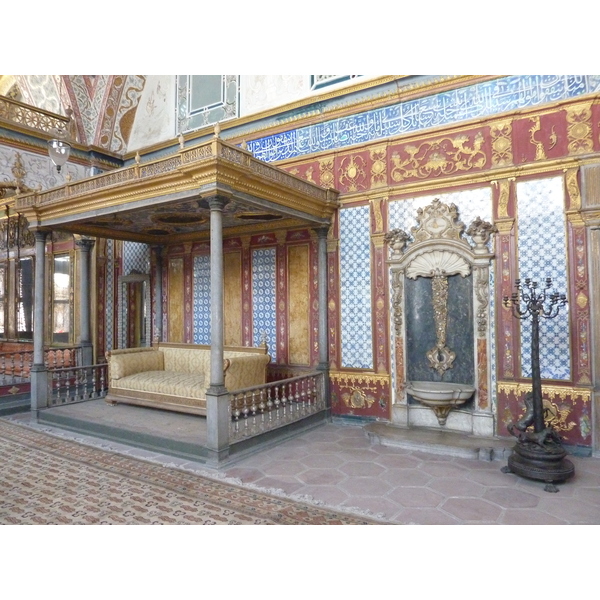
[[0, 524], [378, 523], [114, 454], [0, 419]]

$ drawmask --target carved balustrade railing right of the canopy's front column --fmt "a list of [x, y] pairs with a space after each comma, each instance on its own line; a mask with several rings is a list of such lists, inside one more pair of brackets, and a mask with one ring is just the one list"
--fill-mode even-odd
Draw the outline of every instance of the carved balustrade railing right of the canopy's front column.
[[229, 408], [229, 441], [235, 443], [325, 410], [325, 378], [314, 371], [237, 390]]

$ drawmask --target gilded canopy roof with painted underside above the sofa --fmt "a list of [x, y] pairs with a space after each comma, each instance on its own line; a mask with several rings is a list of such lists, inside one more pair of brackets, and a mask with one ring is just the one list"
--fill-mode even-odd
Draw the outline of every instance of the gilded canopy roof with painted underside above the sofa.
[[30, 229], [149, 244], [210, 237], [208, 200], [228, 200], [225, 235], [328, 226], [338, 192], [323, 189], [215, 137], [153, 162], [20, 195]]

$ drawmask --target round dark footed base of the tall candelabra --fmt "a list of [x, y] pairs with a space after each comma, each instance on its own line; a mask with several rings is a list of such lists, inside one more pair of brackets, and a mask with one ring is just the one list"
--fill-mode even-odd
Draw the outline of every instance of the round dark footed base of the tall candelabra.
[[558, 492], [554, 483], [566, 481], [575, 473], [575, 467], [565, 458], [566, 455], [565, 449], [553, 441], [543, 445], [529, 441], [518, 442], [508, 457], [508, 466], [502, 471], [544, 481], [547, 492]]

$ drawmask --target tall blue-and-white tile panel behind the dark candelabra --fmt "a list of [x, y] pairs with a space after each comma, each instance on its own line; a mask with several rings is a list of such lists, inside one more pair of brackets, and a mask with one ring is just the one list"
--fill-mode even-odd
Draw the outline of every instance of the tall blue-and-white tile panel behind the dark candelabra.
[[[562, 177], [517, 183], [519, 277], [567, 294], [567, 246]], [[540, 368], [543, 379], [570, 379], [569, 310], [540, 322]], [[531, 377], [531, 321], [521, 322], [521, 373]]]

